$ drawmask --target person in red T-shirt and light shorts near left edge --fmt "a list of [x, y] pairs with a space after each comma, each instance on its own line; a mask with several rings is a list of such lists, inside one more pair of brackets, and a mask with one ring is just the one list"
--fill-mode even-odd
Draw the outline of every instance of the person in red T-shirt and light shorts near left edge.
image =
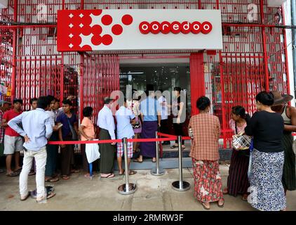
[[[22, 150], [22, 137], [16, 131], [11, 129], [8, 122], [14, 117], [22, 114], [22, 99], [13, 100], [13, 109], [4, 113], [2, 127], [5, 128], [4, 136], [4, 155], [6, 155], [6, 175], [18, 176], [22, 167], [20, 167], [20, 151]], [[15, 155], [15, 170], [11, 169], [11, 162]]]

